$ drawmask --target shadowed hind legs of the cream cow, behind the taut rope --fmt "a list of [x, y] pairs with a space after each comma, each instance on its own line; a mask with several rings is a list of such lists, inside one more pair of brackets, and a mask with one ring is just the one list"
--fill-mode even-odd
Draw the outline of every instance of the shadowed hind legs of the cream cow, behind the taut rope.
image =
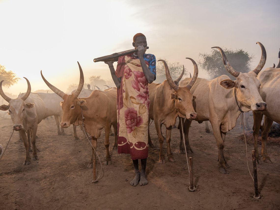
[[[182, 122], [183, 122], [183, 129], [184, 129], [184, 133], [181, 131], [182, 129], [182, 126], [181, 126], [181, 120], [179, 121], [179, 125], [180, 125], [180, 146], [179, 146], [179, 153], [181, 154], [184, 154], [186, 153], [185, 151], [185, 146], [184, 144], [186, 145], [186, 149], [187, 149], [187, 153], [193, 153], [192, 151], [192, 148], [190, 146], [190, 142], [189, 142], [189, 131], [190, 131], [190, 125], [192, 124], [192, 121], [190, 120], [186, 120], [184, 122], [185, 119], [182, 118]], [[183, 139], [183, 135], [185, 135], [185, 142], [184, 142], [184, 139]]]

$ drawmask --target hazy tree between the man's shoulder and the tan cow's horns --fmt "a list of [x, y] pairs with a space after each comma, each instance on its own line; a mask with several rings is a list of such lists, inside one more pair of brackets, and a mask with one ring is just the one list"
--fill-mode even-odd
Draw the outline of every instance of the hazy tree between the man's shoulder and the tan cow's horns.
[[[165, 59], [162, 59], [162, 60], [165, 60]], [[170, 72], [172, 79], [176, 80], [183, 71], [183, 65], [181, 65], [179, 62], [169, 63], [168, 60], [165, 60], [165, 62], [167, 63], [167, 66], [169, 68], [169, 72]], [[157, 71], [157, 78], [156, 78], [155, 82], [158, 83], [158, 82], [163, 82], [164, 80], [166, 80], [164, 64], [162, 61], [157, 62], [156, 71]], [[186, 71], [185, 71], [185, 73], [186, 73]]]

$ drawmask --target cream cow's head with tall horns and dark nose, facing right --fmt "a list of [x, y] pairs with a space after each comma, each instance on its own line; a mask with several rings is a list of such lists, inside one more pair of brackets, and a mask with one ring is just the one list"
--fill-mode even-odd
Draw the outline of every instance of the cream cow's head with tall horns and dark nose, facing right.
[[235, 88], [236, 97], [239, 106], [241, 107], [242, 111], [265, 111], [266, 110], [266, 103], [263, 101], [262, 97], [260, 96], [260, 81], [256, 78], [258, 73], [262, 70], [265, 61], [266, 61], [266, 51], [262, 43], [257, 42], [262, 49], [262, 57], [258, 66], [248, 73], [240, 73], [235, 71], [232, 66], [230, 66], [225, 53], [220, 47], [213, 47], [218, 48], [221, 52], [223, 57], [224, 66], [227, 71], [232, 74], [235, 78], [235, 81], [232, 80], [223, 80], [220, 82], [220, 85], [226, 89]]

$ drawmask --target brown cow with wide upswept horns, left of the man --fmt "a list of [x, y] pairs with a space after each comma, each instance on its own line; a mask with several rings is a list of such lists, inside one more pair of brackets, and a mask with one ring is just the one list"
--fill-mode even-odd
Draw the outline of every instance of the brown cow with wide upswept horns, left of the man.
[[[82, 125], [84, 123], [85, 130], [91, 135], [92, 145], [95, 149], [97, 147], [97, 139], [100, 137], [102, 130], [105, 130], [105, 164], [111, 164], [112, 162], [109, 154], [109, 130], [111, 125], [113, 125], [115, 131], [114, 149], [116, 149], [118, 146], [116, 133], [117, 91], [116, 88], [111, 88], [110, 90], [105, 92], [100, 90], [94, 90], [89, 97], [78, 98], [78, 95], [80, 94], [84, 84], [84, 75], [79, 62], [78, 65], [80, 69], [80, 83], [77, 90], [71, 95], [67, 95], [61, 90], [51, 85], [44, 78], [42, 72], [41, 76], [45, 83], [48, 85], [48, 87], [64, 100], [63, 102], [61, 102], [63, 110], [62, 122], [60, 123], [61, 127], [67, 128], [71, 124]], [[94, 180], [96, 179], [95, 155], [96, 154], [94, 150], [92, 150], [92, 160], [88, 164], [88, 167], [91, 167], [93, 164]]]

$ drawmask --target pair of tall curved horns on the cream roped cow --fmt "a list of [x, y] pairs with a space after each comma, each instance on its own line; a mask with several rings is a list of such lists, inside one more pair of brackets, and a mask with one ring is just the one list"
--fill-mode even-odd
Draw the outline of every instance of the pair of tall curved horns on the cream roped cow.
[[[260, 42], [257, 42], [256, 44], [259, 44], [261, 49], [262, 49], [262, 56], [261, 56], [261, 59], [260, 59], [260, 62], [258, 63], [258, 66], [253, 70], [253, 72], [255, 72], [257, 75], [258, 73], [260, 73], [260, 71], [262, 70], [264, 64], [265, 64], [265, 61], [266, 61], [266, 51], [265, 51], [265, 48], [264, 46], [262, 45], [262, 43]], [[225, 66], [225, 69], [227, 69], [227, 71], [232, 75], [234, 76], [235, 78], [237, 78], [240, 74], [240, 72], [238, 71], [235, 71], [234, 68], [232, 68], [232, 66], [229, 64], [228, 60], [227, 60], [227, 57], [224, 53], [224, 51], [220, 48], [220, 47], [211, 47], [211, 48], [217, 48], [220, 50], [221, 52], [221, 55], [222, 55], [222, 58], [223, 58], [223, 62], [224, 62], [224, 66]]]

